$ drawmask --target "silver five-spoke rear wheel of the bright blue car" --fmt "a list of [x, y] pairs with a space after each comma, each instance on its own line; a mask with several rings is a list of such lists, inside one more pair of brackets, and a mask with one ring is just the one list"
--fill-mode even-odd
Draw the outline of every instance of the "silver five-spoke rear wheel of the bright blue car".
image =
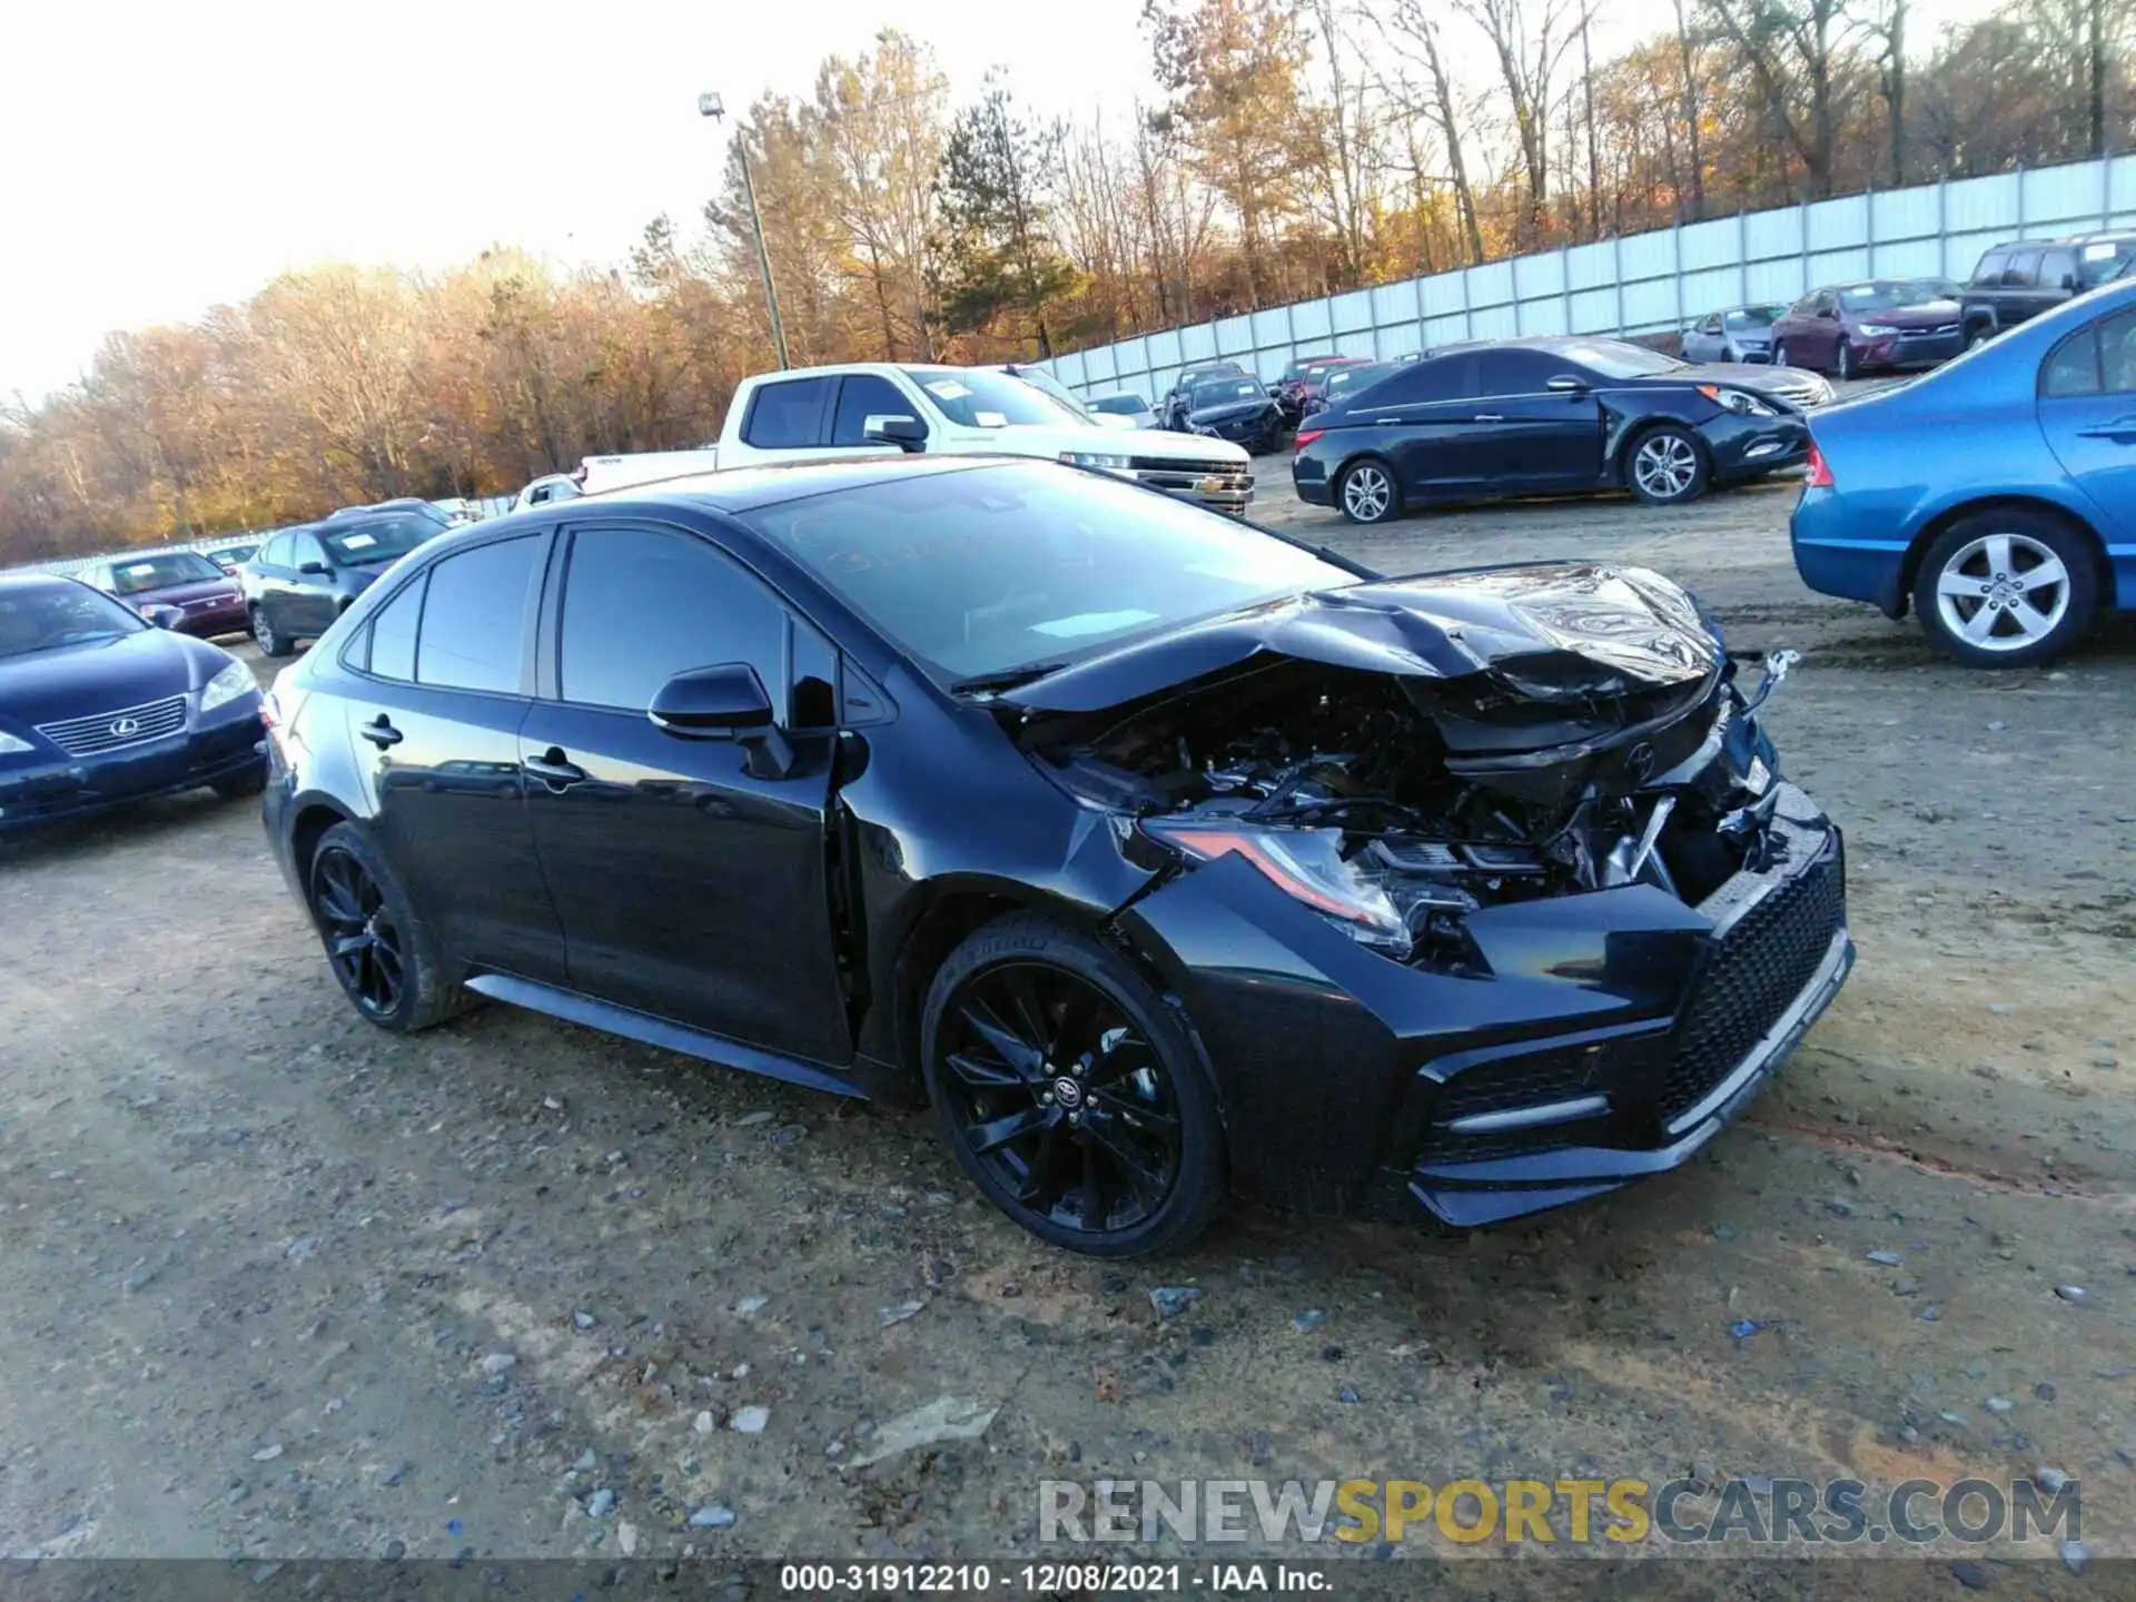
[[2091, 628], [2098, 572], [2080, 534], [2029, 511], [1961, 519], [1929, 547], [1914, 611], [1967, 666], [2029, 666], [2061, 656]]

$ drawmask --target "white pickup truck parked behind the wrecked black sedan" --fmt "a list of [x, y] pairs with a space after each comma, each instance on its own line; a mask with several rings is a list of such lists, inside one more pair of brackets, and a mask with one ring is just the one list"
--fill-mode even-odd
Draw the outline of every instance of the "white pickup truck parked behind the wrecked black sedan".
[[1000, 367], [884, 361], [743, 378], [718, 444], [587, 457], [572, 478], [592, 496], [731, 468], [899, 451], [1072, 461], [1224, 513], [1243, 513], [1254, 500], [1254, 461], [1230, 440], [1102, 427]]

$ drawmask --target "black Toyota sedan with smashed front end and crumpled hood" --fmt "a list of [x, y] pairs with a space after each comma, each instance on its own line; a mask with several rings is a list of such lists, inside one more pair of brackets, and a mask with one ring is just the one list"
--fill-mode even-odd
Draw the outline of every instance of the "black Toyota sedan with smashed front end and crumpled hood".
[[927, 1100], [1042, 1239], [1677, 1168], [1852, 963], [1839, 831], [1638, 568], [1382, 579], [1104, 472], [726, 472], [446, 534], [284, 673], [348, 1000]]

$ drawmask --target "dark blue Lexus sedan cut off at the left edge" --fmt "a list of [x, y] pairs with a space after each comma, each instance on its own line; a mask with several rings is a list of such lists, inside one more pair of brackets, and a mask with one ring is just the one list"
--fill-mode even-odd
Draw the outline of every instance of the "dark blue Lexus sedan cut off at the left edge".
[[0, 575], [0, 833], [152, 795], [258, 795], [252, 669], [75, 579]]

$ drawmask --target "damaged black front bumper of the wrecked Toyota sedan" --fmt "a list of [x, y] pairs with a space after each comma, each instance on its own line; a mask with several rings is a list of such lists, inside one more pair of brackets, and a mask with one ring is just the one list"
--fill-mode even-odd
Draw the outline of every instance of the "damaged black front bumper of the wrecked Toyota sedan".
[[1698, 906], [1623, 884], [1470, 914], [1482, 974], [1378, 957], [1237, 857], [1121, 929], [1200, 1032], [1243, 1194], [1489, 1224], [1690, 1162], [1831, 1004], [1839, 829], [1784, 782], [1764, 827]]

